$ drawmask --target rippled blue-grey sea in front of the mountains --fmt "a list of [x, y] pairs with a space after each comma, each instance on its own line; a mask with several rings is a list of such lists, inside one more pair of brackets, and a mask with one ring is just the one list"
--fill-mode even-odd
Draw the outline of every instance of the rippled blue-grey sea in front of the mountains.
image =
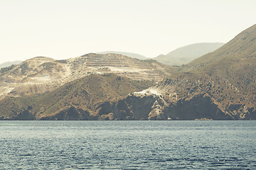
[[256, 121], [0, 121], [0, 169], [256, 169]]

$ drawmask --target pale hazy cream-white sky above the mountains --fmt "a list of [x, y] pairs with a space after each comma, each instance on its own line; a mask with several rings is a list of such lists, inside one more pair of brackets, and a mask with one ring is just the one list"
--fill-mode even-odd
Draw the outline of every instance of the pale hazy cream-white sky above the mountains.
[[256, 23], [255, 0], [1, 0], [0, 63], [107, 50], [146, 57], [228, 42]]

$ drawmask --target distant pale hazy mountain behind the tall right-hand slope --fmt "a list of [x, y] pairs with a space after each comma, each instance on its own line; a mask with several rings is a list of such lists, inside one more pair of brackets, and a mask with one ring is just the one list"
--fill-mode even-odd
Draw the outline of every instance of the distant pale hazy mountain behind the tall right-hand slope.
[[169, 52], [167, 55], [159, 55], [155, 57], [154, 60], [169, 65], [188, 64], [192, 60], [206, 55], [209, 52], [213, 52], [223, 45], [224, 43], [220, 42], [203, 42], [186, 45]]

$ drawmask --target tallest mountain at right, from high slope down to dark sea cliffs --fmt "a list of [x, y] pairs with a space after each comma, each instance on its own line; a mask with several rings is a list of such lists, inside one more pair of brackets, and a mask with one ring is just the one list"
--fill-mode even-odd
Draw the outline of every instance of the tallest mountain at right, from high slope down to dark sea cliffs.
[[154, 87], [102, 103], [100, 113], [119, 120], [256, 120], [256, 25], [188, 67]]

